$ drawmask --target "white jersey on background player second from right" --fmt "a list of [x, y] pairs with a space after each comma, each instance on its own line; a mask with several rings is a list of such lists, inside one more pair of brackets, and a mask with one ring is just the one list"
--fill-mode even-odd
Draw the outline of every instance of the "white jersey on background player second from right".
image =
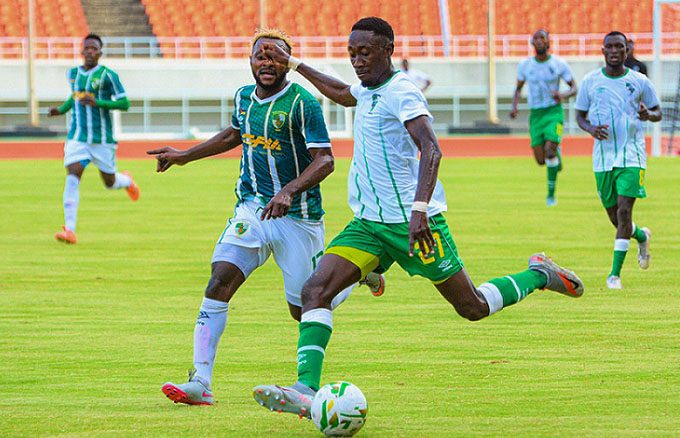
[[558, 105], [552, 92], [560, 90], [560, 79], [571, 82], [574, 76], [566, 61], [550, 55], [545, 61], [537, 61], [532, 56], [520, 62], [517, 66], [517, 79], [529, 86], [529, 107], [536, 109]]

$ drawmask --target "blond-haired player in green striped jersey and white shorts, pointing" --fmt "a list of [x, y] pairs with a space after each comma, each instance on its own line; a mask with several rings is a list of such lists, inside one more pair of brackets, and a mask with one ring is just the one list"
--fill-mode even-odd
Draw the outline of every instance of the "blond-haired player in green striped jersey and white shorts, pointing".
[[[163, 147], [149, 151], [157, 171], [173, 164], [216, 155], [243, 144], [238, 202], [212, 256], [212, 276], [194, 329], [194, 371], [189, 382], [168, 382], [163, 393], [175, 403], [212, 405], [215, 354], [227, 323], [229, 301], [236, 290], [271, 254], [283, 272], [291, 315], [300, 320], [300, 292], [324, 252], [319, 183], [334, 169], [333, 153], [319, 102], [287, 79], [286, 64], [272, 62], [264, 43], [290, 53], [292, 44], [279, 30], [261, 30], [252, 43], [250, 66], [255, 85], [234, 97], [231, 126], [185, 151]], [[374, 295], [384, 279], [372, 274], [365, 282]], [[348, 285], [349, 286], [349, 285]], [[344, 301], [350, 288], [333, 301]]]

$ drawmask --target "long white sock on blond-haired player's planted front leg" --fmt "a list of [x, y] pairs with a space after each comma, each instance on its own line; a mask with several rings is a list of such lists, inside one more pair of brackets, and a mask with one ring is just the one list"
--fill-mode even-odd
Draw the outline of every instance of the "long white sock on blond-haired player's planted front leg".
[[194, 328], [194, 379], [210, 389], [215, 354], [220, 337], [227, 325], [229, 303], [203, 298]]

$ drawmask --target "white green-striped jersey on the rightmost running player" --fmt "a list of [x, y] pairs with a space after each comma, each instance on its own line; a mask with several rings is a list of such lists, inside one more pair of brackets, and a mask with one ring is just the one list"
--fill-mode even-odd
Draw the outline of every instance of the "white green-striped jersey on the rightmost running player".
[[592, 125], [609, 125], [609, 138], [594, 142], [595, 172], [614, 167], [646, 168], [645, 136], [638, 118], [640, 102], [647, 108], [659, 105], [654, 85], [641, 73], [627, 68], [623, 76], [613, 78], [602, 68], [583, 78], [574, 108], [587, 111]]

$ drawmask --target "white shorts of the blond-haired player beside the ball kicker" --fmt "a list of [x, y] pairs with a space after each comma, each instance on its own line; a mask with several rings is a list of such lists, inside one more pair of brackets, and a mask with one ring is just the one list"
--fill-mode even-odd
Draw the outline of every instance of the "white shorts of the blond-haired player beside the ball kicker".
[[262, 266], [270, 254], [283, 273], [286, 300], [302, 306], [300, 293], [324, 252], [323, 220], [304, 221], [289, 216], [260, 220], [262, 204], [245, 201], [234, 209], [234, 217], [220, 236], [212, 262], [229, 262], [248, 276]]

